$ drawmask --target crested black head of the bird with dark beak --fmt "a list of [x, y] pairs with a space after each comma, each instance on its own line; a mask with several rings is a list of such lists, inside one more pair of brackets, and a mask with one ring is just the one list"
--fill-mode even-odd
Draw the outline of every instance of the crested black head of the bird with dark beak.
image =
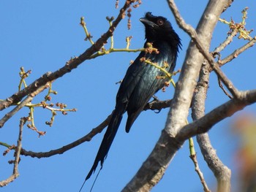
[[177, 47], [177, 50], [181, 47], [181, 39], [166, 18], [146, 12], [140, 22], [145, 26], [145, 38], [148, 42], [165, 41]]

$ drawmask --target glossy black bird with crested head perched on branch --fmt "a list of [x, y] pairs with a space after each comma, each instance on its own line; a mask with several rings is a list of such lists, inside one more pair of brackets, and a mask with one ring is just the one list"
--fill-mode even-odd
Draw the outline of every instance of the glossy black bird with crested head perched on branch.
[[128, 133], [132, 123], [143, 111], [148, 100], [151, 99], [154, 93], [165, 86], [167, 79], [157, 78], [157, 76], [165, 74], [155, 66], [146, 64], [140, 58], [145, 57], [159, 66], [165, 66], [167, 72], [170, 73], [173, 72], [176, 66], [178, 48], [181, 48], [181, 39], [173, 30], [170, 22], [161, 16], [152, 15], [151, 12], [146, 12], [145, 18], [140, 18], [140, 22], [144, 24], [146, 32], [144, 47], [146, 48], [149, 42], [154, 48], [157, 48], [159, 53], [146, 53], [143, 51], [127, 69], [127, 74], [125, 74], [116, 96], [116, 108], [86, 180], [95, 172], [99, 161], [102, 168], [124, 112], [128, 113], [125, 128]]

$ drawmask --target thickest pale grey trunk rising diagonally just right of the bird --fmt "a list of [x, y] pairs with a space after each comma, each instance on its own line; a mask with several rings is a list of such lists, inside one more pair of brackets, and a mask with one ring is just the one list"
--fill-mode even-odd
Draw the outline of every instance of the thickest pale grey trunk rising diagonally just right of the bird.
[[[173, 15], [179, 15], [174, 2], [169, 0], [167, 3], [169, 4], [170, 9], [172, 9]], [[198, 38], [203, 39], [204, 47], [209, 47], [212, 31], [214, 30], [219, 15], [225, 8], [226, 4], [227, 1], [224, 0], [211, 0], [208, 2], [208, 6], [206, 7], [205, 12], [200, 19], [200, 23], [197, 26]], [[179, 20], [181, 17], [176, 17], [176, 19], [177, 23], [184, 23], [184, 20]], [[166, 145], [170, 142], [170, 139], [175, 140], [178, 143], [178, 146], [181, 146], [184, 142], [182, 139], [176, 139], [176, 134], [183, 126], [186, 125], [192, 95], [195, 90], [197, 77], [202, 63], [203, 55], [199, 53], [195, 46], [195, 42], [191, 42], [178, 79], [170, 112], [167, 117], [165, 131], [162, 131], [162, 135], [159, 138], [156, 147], [143, 163], [143, 165], [154, 166], [154, 169], [148, 170], [146, 173], [143, 171], [144, 166], [141, 166], [138, 173], [135, 174], [135, 177], [132, 178], [123, 191], [150, 191], [151, 188], [162, 178], [165, 169], [168, 164], [170, 164], [170, 161], [178, 150], [177, 145], [170, 147], [166, 147]], [[166, 134], [168, 134], [170, 138], [166, 137]], [[162, 146], [161, 150], [156, 150], [157, 146]], [[154, 161], [152, 161], [152, 159], [154, 159]], [[157, 164], [151, 164], [154, 162], [157, 162]], [[152, 175], [152, 177], [148, 177], [148, 175]]]

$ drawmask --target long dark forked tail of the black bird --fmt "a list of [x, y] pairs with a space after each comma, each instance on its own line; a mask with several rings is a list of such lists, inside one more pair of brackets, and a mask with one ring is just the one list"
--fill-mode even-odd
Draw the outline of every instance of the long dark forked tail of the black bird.
[[[118, 108], [120, 108], [120, 109], [118, 109]], [[107, 158], [108, 151], [110, 149], [110, 146], [112, 145], [113, 139], [116, 136], [116, 132], [118, 130], [118, 127], [121, 123], [121, 119], [125, 112], [125, 109], [123, 106], [118, 107], [118, 108], [116, 107], [116, 110], [113, 112], [112, 118], [111, 118], [110, 123], [107, 128], [107, 131], [102, 139], [102, 143], [99, 147], [98, 153], [94, 160], [94, 164], [93, 164], [93, 166], [91, 166], [91, 170], [87, 174], [86, 180], [89, 180], [89, 178], [91, 177], [91, 174], [93, 174], [95, 172], [95, 170], [97, 169], [97, 166], [99, 164], [99, 161], [100, 161], [100, 166], [101, 166], [100, 170], [102, 169], [105, 158]], [[97, 176], [98, 176], [98, 174], [97, 174]], [[97, 179], [97, 177], [96, 177], [96, 179]], [[86, 180], [84, 180], [83, 185], [86, 183]], [[95, 181], [94, 181], [94, 183], [95, 183]], [[80, 191], [82, 190], [83, 185], [81, 186]]]

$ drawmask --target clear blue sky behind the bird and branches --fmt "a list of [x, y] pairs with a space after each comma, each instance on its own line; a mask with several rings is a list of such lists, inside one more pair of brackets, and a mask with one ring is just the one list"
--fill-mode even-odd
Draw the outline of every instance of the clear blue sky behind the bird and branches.
[[[89, 42], [83, 41], [85, 34], [80, 27], [80, 17], [84, 16], [93, 39], [99, 38], [108, 29], [106, 16], [116, 16], [116, 1], [2, 1], [0, 6], [0, 55], [1, 55], [1, 93], [0, 99], [5, 99], [18, 91], [20, 66], [32, 73], [26, 82], [29, 84], [45, 72], [54, 72], [69, 58], [80, 55]], [[124, 2], [120, 1], [120, 6]], [[206, 1], [177, 1], [181, 15], [192, 26], [197, 26], [200, 15], [206, 6]], [[227, 20], [241, 20], [241, 10], [249, 7], [246, 28], [255, 28], [256, 4], [253, 1], [235, 1], [222, 15]], [[132, 29], [127, 30], [127, 18], [116, 28], [114, 35], [115, 47], [125, 47], [125, 37], [132, 35], [131, 48], [143, 47], [144, 28], [138, 20], [145, 12], [165, 16], [173, 23], [173, 28], [182, 39], [183, 50], [178, 55], [177, 67], [181, 68], [184, 61], [189, 37], [176, 25], [166, 1], [143, 1], [138, 9], [132, 10]], [[228, 27], [218, 23], [214, 31], [211, 50], [217, 47], [225, 37]], [[252, 36], [255, 32], [252, 32]], [[234, 39], [231, 45], [222, 53], [222, 58], [233, 53], [244, 40]], [[108, 47], [108, 45], [106, 45]], [[255, 59], [252, 55], [255, 47], [239, 55], [232, 63], [222, 67], [230, 80], [238, 89], [255, 88]], [[52, 102], [64, 102], [69, 108], [77, 108], [78, 112], [68, 115], [57, 115], [53, 127], [45, 125], [50, 120], [50, 112], [37, 109], [35, 123], [39, 130], [47, 131], [45, 137], [37, 137], [34, 131], [24, 128], [23, 147], [26, 150], [45, 152], [67, 145], [83, 137], [91, 128], [102, 123], [102, 120], [112, 112], [115, 106], [118, 85], [115, 82], [124, 77], [129, 61], [134, 60], [138, 53], [112, 53], [94, 60], [86, 61], [78, 69], [59, 78], [53, 83], [53, 89], [58, 95], [52, 96]], [[178, 77], [174, 78], [175, 80]], [[34, 99], [43, 100], [45, 92]], [[165, 93], [158, 93], [159, 99], [170, 99], [173, 88], [167, 88]], [[206, 101], [206, 112], [228, 101], [227, 96], [219, 89], [216, 75], [211, 74], [210, 88]], [[1, 117], [9, 110], [0, 112]], [[247, 112], [256, 112], [255, 105], [246, 107]], [[0, 141], [16, 145], [18, 137], [18, 122], [20, 117], [27, 116], [29, 110], [23, 109], [1, 128]], [[135, 121], [129, 134], [124, 131], [127, 115], [124, 115], [116, 139], [108, 153], [102, 172], [99, 174], [94, 191], [121, 191], [137, 172], [153, 149], [162, 128], [165, 125], [168, 110], [159, 114], [152, 111], [143, 112]], [[238, 147], [238, 139], [230, 134], [230, 124], [236, 119], [228, 118], [218, 123], [210, 131], [211, 142], [216, 147], [222, 161], [233, 169], [233, 183], [236, 183], [236, 167], [234, 153]], [[78, 191], [86, 174], [91, 169], [94, 157], [102, 140], [103, 134], [94, 137], [91, 142], [83, 143], [63, 155], [51, 158], [30, 158], [21, 156], [19, 164], [20, 177], [10, 183], [2, 191]], [[5, 148], [0, 146], [1, 152]], [[200, 168], [211, 189], [215, 187], [214, 175], [208, 170], [196, 145]], [[12, 153], [0, 158], [0, 180], [12, 173], [12, 166], [7, 163], [12, 159]], [[152, 191], [203, 191], [200, 180], [189, 159], [187, 142], [178, 151], [172, 164], [165, 172], [159, 185]], [[94, 174], [94, 177], [96, 175]], [[94, 177], [91, 177], [84, 188], [89, 191]], [[186, 185], [184, 185], [186, 183]], [[235, 185], [234, 185], [235, 186]]]

